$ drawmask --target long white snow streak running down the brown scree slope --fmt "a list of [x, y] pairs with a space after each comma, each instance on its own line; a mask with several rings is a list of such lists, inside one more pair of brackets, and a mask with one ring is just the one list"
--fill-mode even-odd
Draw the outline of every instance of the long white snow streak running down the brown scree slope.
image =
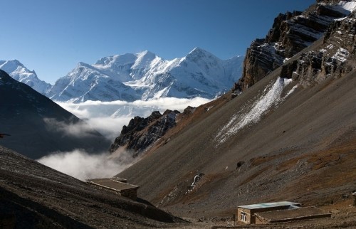
[[216, 134], [217, 145], [226, 142], [229, 137], [237, 134], [240, 129], [249, 124], [257, 123], [270, 107], [278, 105], [278, 102], [283, 101], [296, 88], [293, 87], [291, 92], [288, 92], [285, 97], [281, 97], [283, 88], [292, 81], [291, 79], [278, 78], [273, 85], [266, 87], [263, 91], [264, 95], [252, 105], [251, 110], [247, 111], [247, 107], [242, 107], [236, 115], [231, 117], [231, 120], [224, 127], [219, 129], [219, 132]]

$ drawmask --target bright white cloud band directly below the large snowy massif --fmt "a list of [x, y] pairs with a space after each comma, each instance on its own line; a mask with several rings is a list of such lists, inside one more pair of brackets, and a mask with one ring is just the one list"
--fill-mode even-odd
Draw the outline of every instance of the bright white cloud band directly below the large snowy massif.
[[[84, 119], [93, 129], [98, 130], [106, 138], [113, 141], [120, 135], [122, 126], [128, 124], [135, 116], [147, 117], [155, 110], [163, 113], [165, 110], [179, 110], [182, 112], [186, 107], [198, 107], [207, 100], [201, 97], [194, 99], [179, 99], [174, 97], [159, 98], [157, 100], [125, 101], [85, 101], [82, 103], [57, 102], [64, 109]], [[61, 125], [59, 125], [61, 127]], [[71, 132], [73, 129], [69, 129]], [[78, 128], [80, 129], [80, 128]]]

